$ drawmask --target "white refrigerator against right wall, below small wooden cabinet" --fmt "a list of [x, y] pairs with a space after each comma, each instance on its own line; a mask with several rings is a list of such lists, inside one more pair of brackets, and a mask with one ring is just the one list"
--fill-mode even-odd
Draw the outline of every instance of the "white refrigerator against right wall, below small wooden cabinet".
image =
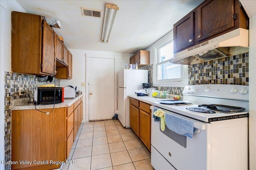
[[128, 95], [142, 89], [148, 82], [148, 70], [123, 69], [117, 75], [118, 119], [126, 128], [130, 127], [130, 100]]

